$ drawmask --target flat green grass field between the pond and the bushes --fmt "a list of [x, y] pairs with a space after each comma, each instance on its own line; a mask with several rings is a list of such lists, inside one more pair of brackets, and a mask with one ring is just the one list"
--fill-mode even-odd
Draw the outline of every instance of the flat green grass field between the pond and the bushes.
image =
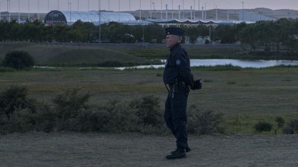
[[[228, 133], [254, 133], [259, 121], [274, 124], [275, 117], [298, 118], [298, 68], [229, 69], [201, 67], [192, 69], [203, 80], [203, 89], [191, 91], [188, 106], [196, 104], [204, 111], [224, 113]], [[148, 94], [166, 98], [162, 69], [146, 70], [79, 70], [77, 68], [0, 73], [0, 89], [12, 84], [26, 85], [30, 96], [50, 100], [68, 87], [90, 91], [91, 102], [132, 100]]]

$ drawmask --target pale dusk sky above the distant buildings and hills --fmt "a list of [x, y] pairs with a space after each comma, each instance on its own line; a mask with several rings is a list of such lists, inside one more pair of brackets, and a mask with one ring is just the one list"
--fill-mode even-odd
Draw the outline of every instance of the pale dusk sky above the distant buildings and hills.
[[[1, 12], [8, 10], [8, 1], [10, 1], [10, 12], [19, 11], [19, 1], [20, 1], [20, 11], [28, 12], [28, 1], [30, 4], [30, 12], [48, 12], [48, 10], [68, 10], [68, 1], [71, 3], [71, 10], [98, 10], [99, 0], [0, 0], [0, 10]], [[140, 0], [100, 0], [101, 10], [113, 10], [113, 11], [128, 11], [128, 10], [139, 10]], [[141, 10], [165, 10], [166, 4], [168, 4], [168, 9], [172, 8], [178, 9], [181, 6], [181, 10], [190, 9], [190, 6], [196, 10], [200, 10], [203, 6], [207, 10], [213, 8], [220, 9], [241, 9], [242, 1], [244, 1], [244, 8], [270, 8], [272, 10], [276, 9], [292, 9], [298, 10], [298, 0], [141, 0]], [[58, 5], [59, 2], [59, 5]], [[78, 5], [79, 2], [79, 5]], [[38, 4], [39, 3], [39, 8]], [[162, 5], [161, 5], [162, 3]], [[173, 3], [173, 4], [172, 4]], [[110, 4], [110, 5], [109, 5]], [[130, 5], [129, 5], [130, 4]], [[79, 6], [79, 8], [78, 8]]]

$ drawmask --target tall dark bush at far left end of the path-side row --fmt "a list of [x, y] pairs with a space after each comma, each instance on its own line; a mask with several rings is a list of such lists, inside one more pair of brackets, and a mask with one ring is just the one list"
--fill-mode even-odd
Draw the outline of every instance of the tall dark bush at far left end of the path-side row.
[[37, 125], [35, 115], [43, 103], [28, 98], [28, 88], [12, 85], [0, 93], [0, 133], [26, 132]]

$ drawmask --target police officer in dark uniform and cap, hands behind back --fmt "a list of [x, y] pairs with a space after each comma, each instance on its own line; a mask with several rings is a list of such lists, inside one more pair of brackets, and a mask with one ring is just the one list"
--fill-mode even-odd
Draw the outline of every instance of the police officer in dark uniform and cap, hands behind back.
[[166, 28], [166, 47], [170, 55], [163, 71], [163, 82], [168, 89], [164, 119], [166, 125], [176, 137], [177, 148], [166, 159], [186, 157], [188, 146], [186, 104], [190, 89], [201, 89], [200, 80], [194, 80], [190, 71], [190, 58], [179, 44], [184, 30], [178, 27]]

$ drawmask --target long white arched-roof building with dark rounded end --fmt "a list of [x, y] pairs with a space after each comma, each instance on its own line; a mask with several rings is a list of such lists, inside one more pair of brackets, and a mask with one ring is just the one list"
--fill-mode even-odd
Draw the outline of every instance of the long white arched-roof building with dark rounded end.
[[[137, 21], [135, 16], [132, 16], [130, 13], [126, 12], [106, 12], [102, 11], [101, 14], [101, 24], [103, 23], [110, 23], [110, 22], [117, 22], [123, 23], [127, 25], [135, 25], [135, 24], [148, 24], [147, 21]], [[44, 19], [44, 23], [46, 25], [72, 25], [76, 21], [83, 21], [83, 22], [91, 22], [95, 25], [99, 25], [99, 11], [59, 11], [59, 10], [52, 10], [46, 14]]]

